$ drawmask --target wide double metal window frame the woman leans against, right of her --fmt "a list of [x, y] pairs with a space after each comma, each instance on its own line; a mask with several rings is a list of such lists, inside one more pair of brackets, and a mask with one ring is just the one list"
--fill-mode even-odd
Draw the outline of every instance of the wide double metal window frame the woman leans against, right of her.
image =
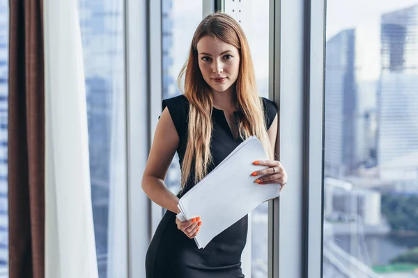
[[269, 96], [289, 176], [269, 203], [270, 278], [322, 277], [324, 23], [325, 0], [270, 0]]

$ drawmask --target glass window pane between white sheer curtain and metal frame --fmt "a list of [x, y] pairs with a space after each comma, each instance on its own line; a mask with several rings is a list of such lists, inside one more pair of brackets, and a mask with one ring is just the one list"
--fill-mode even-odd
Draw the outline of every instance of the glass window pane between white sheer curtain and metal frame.
[[91, 199], [99, 276], [126, 277], [125, 44], [122, 0], [79, 0]]

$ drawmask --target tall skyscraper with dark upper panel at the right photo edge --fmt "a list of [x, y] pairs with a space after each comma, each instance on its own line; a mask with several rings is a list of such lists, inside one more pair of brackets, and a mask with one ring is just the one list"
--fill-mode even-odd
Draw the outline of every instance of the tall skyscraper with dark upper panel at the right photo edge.
[[[381, 17], [378, 88], [380, 178], [418, 179], [418, 5]], [[412, 157], [412, 156], [411, 156]]]

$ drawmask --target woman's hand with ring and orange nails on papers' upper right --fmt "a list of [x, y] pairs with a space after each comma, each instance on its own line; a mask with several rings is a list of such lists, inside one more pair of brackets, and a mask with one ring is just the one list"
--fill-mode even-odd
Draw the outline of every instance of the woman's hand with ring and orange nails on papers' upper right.
[[263, 176], [258, 177], [254, 181], [255, 183], [280, 183], [281, 189], [284, 188], [285, 184], [287, 183], [287, 173], [286, 170], [284, 170], [283, 165], [281, 165], [280, 161], [254, 161], [253, 164], [267, 166], [263, 170], [258, 170], [251, 173], [251, 176], [253, 177]]

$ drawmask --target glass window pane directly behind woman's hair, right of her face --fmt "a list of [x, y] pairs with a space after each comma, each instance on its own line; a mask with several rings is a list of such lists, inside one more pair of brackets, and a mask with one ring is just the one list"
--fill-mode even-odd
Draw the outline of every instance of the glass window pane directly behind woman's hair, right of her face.
[[[247, 36], [258, 94], [266, 98], [269, 78], [269, 4], [268, 0], [225, 1], [225, 13], [238, 21]], [[247, 248], [251, 250], [251, 277], [264, 278], [268, 276], [268, 203], [256, 207], [250, 215]], [[242, 263], [247, 263], [245, 254]]]

